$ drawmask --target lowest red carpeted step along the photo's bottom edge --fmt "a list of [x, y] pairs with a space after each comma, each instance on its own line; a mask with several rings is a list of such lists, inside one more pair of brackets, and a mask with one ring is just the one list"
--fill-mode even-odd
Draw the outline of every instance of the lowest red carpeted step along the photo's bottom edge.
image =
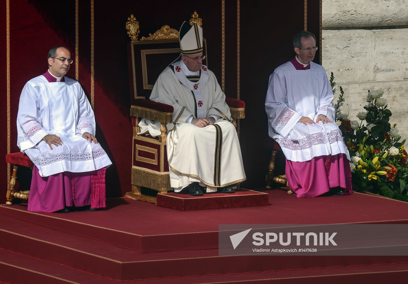
[[[113, 284], [120, 283], [78, 269], [71, 269], [52, 262], [28, 257], [0, 249], [0, 283], [27, 284]], [[403, 282], [408, 276], [408, 264], [382, 264], [374, 266], [330, 267], [298, 269], [264, 273], [237, 273], [131, 281], [143, 284], [199, 284], [199, 283], [276, 283], [276, 284], [361, 284], [387, 283], [389, 280]]]

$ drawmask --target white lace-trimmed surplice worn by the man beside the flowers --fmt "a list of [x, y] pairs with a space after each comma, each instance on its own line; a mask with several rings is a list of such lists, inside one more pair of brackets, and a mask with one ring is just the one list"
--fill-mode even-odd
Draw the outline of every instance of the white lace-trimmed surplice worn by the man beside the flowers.
[[[279, 143], [286, 159], [310, 161], [314, 157], [350, 155], [335, 121], [333, 91], [326, 70], [310, 62], [310, 69], [297, 70], [292, 62], [277, 67], [269, 77], [265, 109], [269, 136]], [[316, 121], [324, 114], [333, 123], [298, 123], [302, 116]]]

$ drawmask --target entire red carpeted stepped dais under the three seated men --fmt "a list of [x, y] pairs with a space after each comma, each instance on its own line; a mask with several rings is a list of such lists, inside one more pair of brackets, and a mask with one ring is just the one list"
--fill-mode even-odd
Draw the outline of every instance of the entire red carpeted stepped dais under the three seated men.
[[0, 281], [361, 283], [407, 276], [407, 256], [218, 256], [218, 224], [408, 223], [408, 203], [378, 196], [267, 193], [268, 206], [204, 211], [126, 198], [68, 214], [0, 205]]

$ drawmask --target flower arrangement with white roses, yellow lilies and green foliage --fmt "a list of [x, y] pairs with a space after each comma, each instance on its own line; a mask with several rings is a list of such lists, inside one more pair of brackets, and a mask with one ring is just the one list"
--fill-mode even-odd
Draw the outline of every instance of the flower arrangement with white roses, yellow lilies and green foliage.
[[[330, 84], [335, 94], [333, 72]], [[368, 90], [365, 111], [359, 112], [358, 120], [352, 121], [340, 110], [345, 101], [341, 87], [340, 93], [334, 107], [336, 121], [340, 123], [339, 128], [351, 157], [353, 189], [408, 201], [405, 140], [399, 142], [401, 136], [397, 125], [391, 126], [389, 122], [392, 113], [387, 100], [382, 97], [384, 91]]]

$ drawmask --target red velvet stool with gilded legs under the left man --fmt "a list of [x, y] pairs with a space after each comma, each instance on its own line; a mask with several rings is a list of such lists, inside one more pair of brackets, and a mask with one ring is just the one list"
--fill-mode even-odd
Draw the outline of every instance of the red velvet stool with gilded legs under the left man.
[[10, 183], [7, 187], [7, 194], [6, 194], [6, 204], [12, 205], [13, 198], [20, 198], [28, 200], [28, 196], [30, 194], [29, 190], [23, 192], [16, 192], [14, 186], [16, 185], [16, 178], [17, 178], [17, 170], [18, 166], [30, 167], [33, 168], [34, 164], [31, 162], [30, 158], [23, 154], [22, 152], [11, 153], [6, 155], [6, 163], [13, 164], [13, 174], [11, 174]]

